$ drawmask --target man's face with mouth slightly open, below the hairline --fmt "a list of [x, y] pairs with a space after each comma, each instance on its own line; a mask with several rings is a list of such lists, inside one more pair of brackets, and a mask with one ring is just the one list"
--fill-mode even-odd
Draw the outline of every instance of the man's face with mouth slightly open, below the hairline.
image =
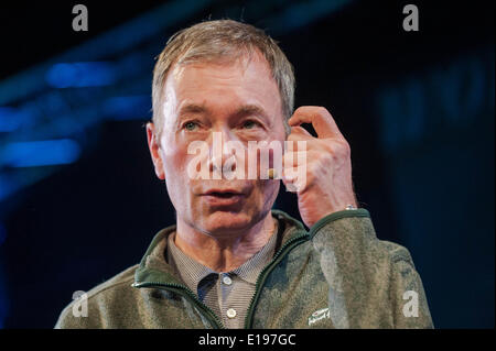
[[[222, 135], [223, 146], [228, 141], [245, 147], [248, 141], [283, 142], [279, 89], [265, 58], [257, 53], [249, 62], [174, 65], [162, 98], [160, 140], [153, 140], [149, 129], [149, 143], [177, 220], [214, 237], [262, 220], [276, 200], [279, 180], [194, 179], [187, 167], [196, 154], [188, 154], [187, 149], [192, 142], [206, 142], [212, 163], [214, 132]], [[233, 153], [224, 149], [222, 163], [229, 156]]]

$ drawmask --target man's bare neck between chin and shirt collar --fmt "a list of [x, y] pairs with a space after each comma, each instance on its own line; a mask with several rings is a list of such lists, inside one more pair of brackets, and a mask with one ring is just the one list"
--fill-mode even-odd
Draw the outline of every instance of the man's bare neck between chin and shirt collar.
[[190, 257], [215, 272], [233, 271], [267, 244], [276, 228], [271, 212], [248, 230], [228, 238], [215, 238], [177, 218], [175, 245]]

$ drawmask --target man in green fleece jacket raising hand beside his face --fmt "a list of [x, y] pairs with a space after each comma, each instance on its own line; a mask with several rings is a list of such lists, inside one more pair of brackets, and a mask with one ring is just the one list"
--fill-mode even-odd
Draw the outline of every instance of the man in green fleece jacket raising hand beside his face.
[[[173, 35], [154, 68], [147, 135], [176, 224], [56, 328], [431, 328], [408, 251], [379, 241], [357, 208], [348, 143], [324, 108], [293, 113], [293, 95], [291, 64], [251, 25], [207, 21]], [[256, 177], [230, 142], [255, 153]], [[267, 145], [249, 146], [263, 142], [287, 146], [263, 163]], [[279, 179], [310, 231], [271, 210]]]

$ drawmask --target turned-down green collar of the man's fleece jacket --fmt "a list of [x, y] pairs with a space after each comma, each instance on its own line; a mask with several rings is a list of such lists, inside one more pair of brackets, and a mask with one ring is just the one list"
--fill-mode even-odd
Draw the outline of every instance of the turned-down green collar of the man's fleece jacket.
[[[303, 224], [288, 213], [273, 209], [272, 216], [278, 220], [280, 228], [279, 233], [282, 232], [281, 238], [278, 238], [279, 243], [277, 244], [277, 248], [281, 248], [294, 237], [306, 233]], [[165, 261], [168, 237], [175, 231], [175, 224], [170, 226], [155, 234], [134, 273], [133, 286], [139, 286], [143, 283], [184, 285], [180, 276]]]

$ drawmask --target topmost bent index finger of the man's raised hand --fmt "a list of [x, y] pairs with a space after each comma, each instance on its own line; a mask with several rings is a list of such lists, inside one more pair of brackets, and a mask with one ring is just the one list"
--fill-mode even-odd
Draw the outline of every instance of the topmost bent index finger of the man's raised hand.
[[302, 106], [288, 120], [291, 127], [312, 123], [319, 138], [343, 138], [331, 113], [323, 107]]

